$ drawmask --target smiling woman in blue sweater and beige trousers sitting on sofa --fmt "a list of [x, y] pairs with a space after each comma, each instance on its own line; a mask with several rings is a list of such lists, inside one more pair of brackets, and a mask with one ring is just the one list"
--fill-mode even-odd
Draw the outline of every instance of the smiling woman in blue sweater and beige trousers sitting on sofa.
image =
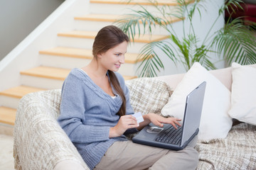
[[172, 151], [134, 144], [125, 135], [149, 123], [180, 125], [154, 113], [137, 124], [129, 91], [117, 73], [129, 38], [116, 26], [102, 28], [92, 47], [93, 59], [65, 79], [58, 122], [90, 169], [196, 169], [193, 147]]

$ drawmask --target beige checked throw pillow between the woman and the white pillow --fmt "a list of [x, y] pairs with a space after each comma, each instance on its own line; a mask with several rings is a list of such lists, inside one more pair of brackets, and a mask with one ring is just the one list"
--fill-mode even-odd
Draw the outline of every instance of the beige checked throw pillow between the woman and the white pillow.
[[164, 81], [154, 78], [139, 78], [125, 81], [130, 94], [130, 103], [134, 112], [161, 113], [172, 94]]

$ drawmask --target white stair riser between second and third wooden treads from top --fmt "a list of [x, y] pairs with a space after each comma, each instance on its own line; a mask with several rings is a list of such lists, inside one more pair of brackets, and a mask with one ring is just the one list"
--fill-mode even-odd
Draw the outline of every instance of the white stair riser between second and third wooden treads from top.
[[[98, 31], [101, 28], [105, 27], [105, 26], [110, 26], [110, 25], [115, 25], [117, 26], [116, 23], [113, 22], [99, 22], [99, 21], [82, 21], [82, 20], [76, 20], [75, 21], [75, 28], [76, 30], [89, 30], [89, 31]], [[141, 31], [143, 30], [143, 26], [142, 24], [140, 25], [140, 29]], [[168, 31], [163, 29], [163, 28], [159, 28], [159, 26], [156, 26], [156, 28], [154, 28], [154, 26], [152, 26], [152, 33], [156, 34], [156, 35], [167, 35]], [[138, 29], [136, 29], [136, 33], [138, 33]], [[148, 30], [146, 30], [146, 33], [149, 33]]]

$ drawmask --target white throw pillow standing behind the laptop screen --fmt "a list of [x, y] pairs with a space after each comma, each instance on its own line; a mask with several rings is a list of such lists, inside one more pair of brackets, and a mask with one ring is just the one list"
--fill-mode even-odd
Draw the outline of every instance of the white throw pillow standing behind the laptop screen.
[[230, 91], [198, 62], [185, 74], [161, 114], [183, 119], [186, 96], [203, 81], [206, 81], [206, 92], [198, 140], [224, 138], [232, 127], [232, 118], [228, 115]]

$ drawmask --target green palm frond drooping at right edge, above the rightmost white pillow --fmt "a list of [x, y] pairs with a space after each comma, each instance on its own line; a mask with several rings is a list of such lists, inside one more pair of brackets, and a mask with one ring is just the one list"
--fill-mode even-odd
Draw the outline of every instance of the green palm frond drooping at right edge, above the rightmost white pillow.
[[255, 63], [255, 35], [241, 23], [239, 18], [227, 23], [225, 28], [218, 32], [213, 42], [217, 45], [218, 53], [224, 53], [228, 64], [232, 62]]

